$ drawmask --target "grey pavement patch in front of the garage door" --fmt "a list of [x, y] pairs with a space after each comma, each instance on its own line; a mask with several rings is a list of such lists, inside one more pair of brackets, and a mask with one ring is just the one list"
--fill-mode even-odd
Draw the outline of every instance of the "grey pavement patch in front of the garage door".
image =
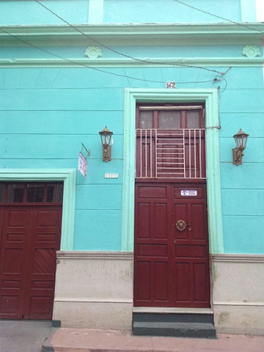
[[41, 352], [51, 321], [0, 320], [0, 352]]

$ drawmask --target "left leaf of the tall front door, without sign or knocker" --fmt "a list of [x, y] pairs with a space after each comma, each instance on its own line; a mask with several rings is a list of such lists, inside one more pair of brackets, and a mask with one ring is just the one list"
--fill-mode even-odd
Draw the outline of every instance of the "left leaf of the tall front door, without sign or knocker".
[[[135, 228], [137, 268], [135, 296], [150, 305], [168, 304], [168, 200], [166, 186], [141, 185], [136, 188]], [[159, 217], [162, 214], [162, 217]], [[147, 278], [147, 279], [146, 279]]]

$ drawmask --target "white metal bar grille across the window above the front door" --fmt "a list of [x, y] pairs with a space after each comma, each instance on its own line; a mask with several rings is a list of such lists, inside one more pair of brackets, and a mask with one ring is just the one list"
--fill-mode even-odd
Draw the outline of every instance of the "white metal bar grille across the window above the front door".
[[136, 177], [206, 178], [203, 138], [203, 129], [136, 129]]

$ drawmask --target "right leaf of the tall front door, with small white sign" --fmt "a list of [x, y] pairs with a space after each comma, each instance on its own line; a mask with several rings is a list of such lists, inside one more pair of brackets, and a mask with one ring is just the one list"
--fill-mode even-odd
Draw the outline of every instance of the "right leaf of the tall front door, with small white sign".
[[[182, 192], [183, 190], [188, 192]], [[188, 270], [185, 269], [184, 273], [186, 295], [184, 301], [181, 301], [181, 307], [210, 307], [206, 185], [174, 186], [173, 195], [173, 223], [178, 220], [186, 223], [183, 231], [173, 227], [173, 238], [176, 242], [173, 258], [175, 267], [179, 262], [182, 265], [188, 264]], [[175, 274], [177, 280], [178, 276], [179, 272]], [[175, 300], [177, 302], [177, 296]]]

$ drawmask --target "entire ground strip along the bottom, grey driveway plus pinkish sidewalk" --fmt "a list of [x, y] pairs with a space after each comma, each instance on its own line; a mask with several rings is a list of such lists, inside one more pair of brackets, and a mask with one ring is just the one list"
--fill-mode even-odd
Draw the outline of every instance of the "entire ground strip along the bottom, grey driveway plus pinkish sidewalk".
[[217, 339], [132, 336], [131, 331], [52, 328], [52, 322], [0, 320], [0, 352], [264, 352], [264, 336]]

